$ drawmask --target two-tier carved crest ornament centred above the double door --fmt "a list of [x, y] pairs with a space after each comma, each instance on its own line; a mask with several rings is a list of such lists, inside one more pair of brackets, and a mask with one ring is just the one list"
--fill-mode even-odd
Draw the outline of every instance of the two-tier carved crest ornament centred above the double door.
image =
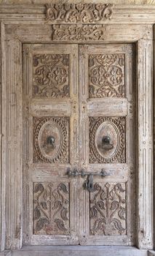
[[46, 4], [45, 19], [52, 23], [53, 41], [104, 40], [113, 4]]

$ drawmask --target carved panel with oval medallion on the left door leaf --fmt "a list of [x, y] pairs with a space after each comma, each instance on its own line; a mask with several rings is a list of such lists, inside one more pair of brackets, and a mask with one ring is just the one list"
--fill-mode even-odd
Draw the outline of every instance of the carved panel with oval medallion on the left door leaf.
[[68, 117], [33, 117], [33, 162], [68, 162], [68, 122]]

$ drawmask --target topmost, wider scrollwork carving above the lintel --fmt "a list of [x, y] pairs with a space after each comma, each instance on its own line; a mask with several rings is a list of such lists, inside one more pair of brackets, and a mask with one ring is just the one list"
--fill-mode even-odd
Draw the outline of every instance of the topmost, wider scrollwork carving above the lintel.
[[112, 14], [113, 4], [46, 4], [46, 20], [53, 23], [100, 23]]

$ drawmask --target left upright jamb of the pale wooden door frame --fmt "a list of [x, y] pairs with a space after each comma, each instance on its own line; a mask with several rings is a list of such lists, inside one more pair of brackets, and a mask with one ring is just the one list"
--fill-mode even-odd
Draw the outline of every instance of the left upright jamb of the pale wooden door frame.
[[23, 222], [23, 154], [22, 154], [22, 77], [21, 43], [11, 40], [5, 46], [5, 86], [7, 117], [7, 189], [6, 247], [22, 246]]

